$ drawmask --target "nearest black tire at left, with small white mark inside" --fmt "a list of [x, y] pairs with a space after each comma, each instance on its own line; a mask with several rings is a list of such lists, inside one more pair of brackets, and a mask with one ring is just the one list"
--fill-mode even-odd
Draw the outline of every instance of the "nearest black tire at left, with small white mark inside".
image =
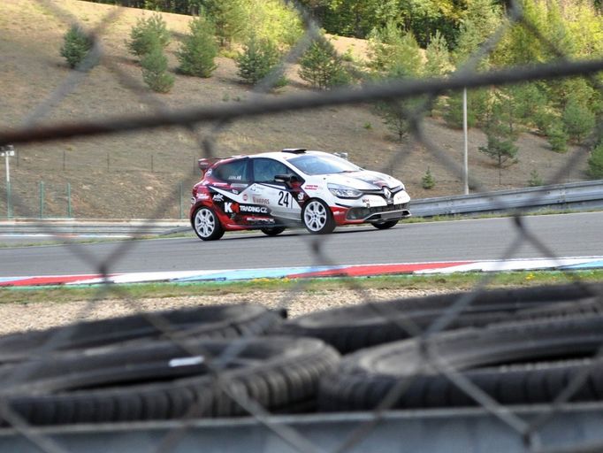
[[[200, 354], [191, 357], [172, 344], [156, 344], [73, 358], [73, 373], [41, 363], [42, 370], [48, 366], [46, 377], [31, 380], [20, 394], [21, 388], [14, 388], [7, 403], [34, 425], [182, 418], [190, 411], [195, 417], [245, 415], [232, 394], [286, 412], [315, 404], [320, 376], [339, 362], [334, 349], [313, 339], [256, 338], [234, 348], [232, 341], [205, 340], [185, 346]], [[208, 355], [221, 360], [222, 386], [202, 363]], [[187, 370], [174, 366], [187, 359], [192, 359]], [[66, 360], [59, 364], [64, 369], [70, 368]], [[123, 383], [127, 386], [117, 387]]]

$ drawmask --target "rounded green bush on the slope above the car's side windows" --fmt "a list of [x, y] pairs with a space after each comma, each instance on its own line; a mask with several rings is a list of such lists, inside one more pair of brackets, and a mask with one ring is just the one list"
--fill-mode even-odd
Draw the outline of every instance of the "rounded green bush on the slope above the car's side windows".
[[[252, 85], [262, 81], [279, 66], [280, 52], [277, 46], [267, 39], [258, 39], [252, 35], [243, 45], [243, 51], [236, 58], [239, 77]], [[282, 68], [274, 74], [271, 86], [280, 87], [286, 84]]]

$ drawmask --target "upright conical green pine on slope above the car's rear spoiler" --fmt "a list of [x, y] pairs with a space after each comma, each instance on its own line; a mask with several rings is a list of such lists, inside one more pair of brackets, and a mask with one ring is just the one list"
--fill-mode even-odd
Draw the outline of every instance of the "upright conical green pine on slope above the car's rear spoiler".
[[210, 77], [217, 65], [218, 44], [214, 38], [214, 27], [202, 16], [188, 24], [190, 33], [185, 36], [176, 52], [180, 73], [196, 77]]

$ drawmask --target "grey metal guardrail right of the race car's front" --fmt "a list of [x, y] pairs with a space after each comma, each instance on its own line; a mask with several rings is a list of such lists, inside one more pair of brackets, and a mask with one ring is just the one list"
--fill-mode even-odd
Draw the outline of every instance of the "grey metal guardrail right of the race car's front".
[[603, 180], [410, 201], [410, 211], [416, 217], [501, 212], [518, 208], [523, 211], [603, 208]]

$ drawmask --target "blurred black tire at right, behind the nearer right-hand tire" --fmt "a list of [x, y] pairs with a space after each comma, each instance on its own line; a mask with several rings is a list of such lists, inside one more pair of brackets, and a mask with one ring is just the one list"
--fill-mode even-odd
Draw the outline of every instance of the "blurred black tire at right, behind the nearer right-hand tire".
[[[357, 349], [406, 339], [413, 332], [404, 328], [405, 320], [411, 320], [419, 329], [424, 329], [462, 297], [471, 296], [472, 302], [455, 316], [447, 329], [504, 322], [516, 317], [520, 311], [525, 311], [523, 319], [543, 317], [548, 311], [555, 310], [559, 314], [576, 313], [580, 311], [577, 301], [586, 301], [602, 292], [603, 285], [597, 284], [495, 289], [474, 295], [453, 293], [412, 297], [316, 311], [291, 319], [277, 329], [279, 334], [319, 338], [340, 353], [347, 354]], [[566, 306], [565, 303], [569, 302], [572, 304]], [[559, 308], [553, 309], [556, 306]]]

